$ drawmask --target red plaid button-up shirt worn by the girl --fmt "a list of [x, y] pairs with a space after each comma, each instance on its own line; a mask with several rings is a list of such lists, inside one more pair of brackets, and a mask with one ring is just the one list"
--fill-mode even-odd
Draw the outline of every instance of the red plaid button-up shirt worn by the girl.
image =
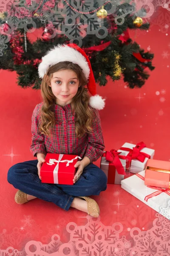
[[96, 161], [103, 154], [105, 148], [99, 112], [93, 109], [96, 114], [92, 128], [92, 134], [85, 133], [81, 138], [76, 138], [75, 120], [71, 112], [71, 103], [61, 107], [54, 104], [53, 111], [56, 117], [56, 125], [51, 128], [51, 138], [38, 132], [38, 122], [40, 120], [40, 104], [36, 105], [31, 117], [32, 144], [30, 151], [34, 157], [36, 153], [43, 154], [75, 154], [88, 157], [92, 162]]

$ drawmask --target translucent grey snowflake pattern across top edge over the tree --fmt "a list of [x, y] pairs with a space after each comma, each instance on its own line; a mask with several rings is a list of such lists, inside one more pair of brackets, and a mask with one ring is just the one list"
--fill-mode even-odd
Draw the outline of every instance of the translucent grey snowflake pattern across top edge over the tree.
[[[54, 38], [57, 34], [64, 34], [69, 38], [70, 43], [76, 40], [77, 45], [81, 47], [82, 39], [86, 35], [96, 35], [99, 39], [103, 39], [108, 35], [108, 29], [104, 26], [104, 19], [96, 16], [96, 9], [99, 7], [102, 8], [102, 5], [105, 3], [104, 0], [95, 3], [94, 0], [84, 1], [83, 4], [82, 1], [71, 0], [68, 1], [71, 8], [69, 8], [68, 2], [64, 0], [41, 1], [43, 5], [40, 5], [40, 1], [36, 0], [29, 1], [30, 3], [27, 2], [27, 4], [23, 0], [17, 0], [12, 5], [10, 0], [3, 0], [1, 2], [0, 11], [6, 12], [8, 10], [8, 15], [3, 20], [6, 23], [0, 26], [0, 30], [3, 32], [2, 34], [7, 36], [6, 42], [10, 40], [11, 35], [14, 34], [16, 29], [24, 29], [28, 33], [35, 31], [37, 26], [32, 18], [35, 17], [35, 10], [37, 19], [42, 24], [45, 24], [46, 31], [48, 29], [53, 31], [53, 34], [48, 35], [48, 38]], [[119, 4], [119, 0], [114, 0], [114, 4], [111, 4], [111, 8], [107, 10], [108, 15], [113, 15], [117, 25], [122, 25], [128, 14], [134, 13], [139, 16], [135, 3], [132, 3], [132, 6], [125, 4], [122, 9], [116, 11], [116, 7]], [[139, 5], [142, 7], [141, 4]], [[142, 5], [144, 5], [143, 1]], [[154, 7], [152, 3], [149, 6], [152, 8], [147, 15], [151, 16]], [[91, 11], [90, 14], [88, 13], [89, 11]], [[95, 12], [92, 13], [92, 11]], [[31, 26], [28, 26], [28, 24]], [[1, 48], [4, 48], [2, 42], [0, 42], [0, 45]], [[0, 54], [2, 56], [1, 49]]]

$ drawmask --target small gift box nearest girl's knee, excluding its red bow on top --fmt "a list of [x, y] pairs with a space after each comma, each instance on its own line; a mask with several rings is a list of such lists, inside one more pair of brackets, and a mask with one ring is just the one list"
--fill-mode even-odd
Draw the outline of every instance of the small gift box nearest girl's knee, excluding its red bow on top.
[[[105, 153], [106, 151], [103, 151], [103, 153]], [[125, 153], [121, 153], [119, 154], [121, 156], [125, 156]], [[125, 159], [120, 159], [120, 162], [122, 163], [122, 166], [125, 170], [126, 168], [126, 160]], [[114, 167], [113, 167], [114, 168]], [[105, 175], [108, 177], [108, 170], [109, 170], [109, 161], [106, 160], [105, 157], [101, 157], [101, 162], [100, 162], [100, 169], [102, 169], [103, 172], [105, 172]], [[128, 173], [127, 173], [128, 175]], [[107, 183], [110, 183], [110, 184], [121, 184], [121, 180], [123, 180], [125, 178], [125, 175], [123, 174], [119, 174], [116, 170], [115, 172], [115, 176], [113, 177], [113, 180], [108, 180]]]

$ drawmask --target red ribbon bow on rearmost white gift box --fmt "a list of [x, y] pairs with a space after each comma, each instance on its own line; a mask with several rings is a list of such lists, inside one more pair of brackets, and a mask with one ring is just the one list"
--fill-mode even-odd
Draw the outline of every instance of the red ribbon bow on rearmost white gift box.
[[129, 154], [126, 156], [126, 159], [129, 161], [129, 163], [133, 159], [137, 159], [143, 163], [145, 157], [150, 158], [149, 154], [141, 152], [141, 150], [145, 147], [146, 147], [146, 145], [143, 142], [139, 142], [139, 143], [137, 143], [137, 145], [135, 147], [133, 147], [133, 149], [122, 147], [122, 148], [120, 148], [120, 150], [130, 151]]

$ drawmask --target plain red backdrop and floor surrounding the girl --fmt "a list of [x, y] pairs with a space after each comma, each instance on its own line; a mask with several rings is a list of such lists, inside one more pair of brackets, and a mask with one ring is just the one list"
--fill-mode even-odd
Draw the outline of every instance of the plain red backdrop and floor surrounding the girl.
[[[105, 150], [118, 150], [125, 142], [136, 144], [143, 141], [148, 148], [155, 149], [155, 159], [170, 161], [170, 29], [164, 29], [168, 24], [165, 14], [169, 15], [166, 9], [160, 7], [156, 10], [148, 20], [151, 25], [148, 32], [130, 31], [134, 41], [145, 51], [150, 47], [150, 52], [155, 55], [153, 65], [156, 68], [152, 72], [146, 69], [150, 77], [144, 86], [129, 89], [122, 79], [113, 82], [109, 77], [105, 87], [97, 85], [97, 93], [106, 98], [105, 109], [99, 112]], [[31, 37], [35, 39], [36, 35], [33, 33]], [[164, 52], [168, 53], [167, 57]], [[70, 221], [85, 224], [86, 218], [79, 218], [86, 216], [84, 212], [73, 208], [66, 212], [38, 198], [23, 205], [14, 201], [17, 189], [7, 182], [7, 172], [16, 163], [36, 159], [29, 151], [31, 115], [41, 97], [40, 90], [19, 87], [15, 72], [0, 70], [0, 77], [0, 236], [3, 238], [0, 248], [13, 246], [22, 249], [26, 241], [33, 239], [48, 243], [54, 233], [58, 233], [62, 241], [67, 241], [66, 225]], [[140, 101], [139, 95], [142, 97]], [[98, 166], [99, 163], [100, 159], [95, 162]], [[102, 223], [112, 225], [116, 221], [121, 222], [126, 236], [128, 227], [147, 230], [155, 218], [153, 209], [119, 185], [108, 184], [105, 192], [92, 198], [99, 203]], [[28, 224], [28, 219], [31, 219], [31, 224]], [[22, 241], [13, 238], [14, 231], [20, 234]]]

